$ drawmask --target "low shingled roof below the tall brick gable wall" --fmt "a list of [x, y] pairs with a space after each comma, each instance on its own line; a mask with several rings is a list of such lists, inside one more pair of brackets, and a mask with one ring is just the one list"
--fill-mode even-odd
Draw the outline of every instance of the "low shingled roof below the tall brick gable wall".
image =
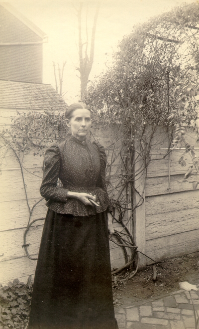
[[51, 85], [0, 80], [0, 109], [66, 111], [67, 107]]

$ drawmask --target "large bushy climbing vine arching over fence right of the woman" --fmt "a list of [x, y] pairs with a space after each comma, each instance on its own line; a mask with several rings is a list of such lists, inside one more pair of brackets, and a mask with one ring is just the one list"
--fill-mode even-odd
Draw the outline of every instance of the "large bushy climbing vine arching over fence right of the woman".
[[[158, 127], [166, 127], [169, 138], [163, 158], [175, 148], [184, 149], [193, 160], [185, 179], [192, 179], [193, 188], [199, 183], [199, 160], [194, 146], [186, 142], [189, 128], [198, 134], [198, 21], [199, 4], [193, 3], [135, 26], [119, 43], [106, 72], [97, 76], [88, 89], [85, 102], [94, 109], [99, 125], [117, 127], [110, 145], [121, 150], [119, 167], [123, 172], [115, 185], [111, 184], [111, 175], [107, 179], [109, 193], [122, 209], [122, 218], [130, 209], [132, 219], [135, 208], [143, 203], [145, 185], [140, 191], [136, 181], [145, 179], [151, 149], [162, 142], [160, 133], [154, 145]], [[184, 156], [179, 165], [186, 166]], [[128, 191], [122, 195], [116, 187], [124, 191], [129, 184], [133, 198], [127, 206]]]

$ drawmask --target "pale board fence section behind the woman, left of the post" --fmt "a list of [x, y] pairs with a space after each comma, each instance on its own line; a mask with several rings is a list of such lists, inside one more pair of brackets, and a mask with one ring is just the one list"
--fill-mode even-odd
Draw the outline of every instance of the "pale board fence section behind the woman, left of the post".
[[[99, 130], [95, 132], [97, 140], [105, 148], [110, 134], [102, 133]], [[6, 147], [4, 150], [1, 149], [0, 283], [3, 284], [15, 278], [25, 282], [29, 275], [34, 276], [36, 260], [31, 260], [26, 256], [24, 247], [22, 247], [24, 244], [23, 235], [29, 222], [45, 217], [47, 207], [45, 200], [39, 202], [34, 207], [29, 220], [29, 211], [41, 199], [39, 187], [43, 175], [43, 158], [34, 156], [33, 153], [34, 151], [31, 151], [27, 155], [19, 155], [22, 164], [22, 176], [19, 162], [14, 153], [11, 150], [7, 152]], [[117, 161], [114, 163], [113, 170], [117, 172], [119, 170]], [[36, 258], [38, 254], [43, 222], [44, 220], [39, 220], [33, 223], [26, 235], [26, 244], [29, 244], [27, 250], [32, 258]], [[121, 226], [115, 224], [115, 228], [119, 230]], [[128, 228], [132, 230], [131, 223], [128, 224]], [[125, 264], [123, 250], [113, 242], [110, 242], [110, 255], [112, 268], [118, 268]]]

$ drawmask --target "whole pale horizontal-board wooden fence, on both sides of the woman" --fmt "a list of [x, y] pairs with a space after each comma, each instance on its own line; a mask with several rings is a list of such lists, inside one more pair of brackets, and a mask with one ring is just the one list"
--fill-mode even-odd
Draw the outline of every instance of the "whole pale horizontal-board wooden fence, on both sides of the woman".
[[[108, 134], [111, 132], [95, 132], [106, 149]], [[194, 145], [196, 139], [196, 133], [190, 131], [188, 142]], [[144, 189], [144, 202], [134, 211], [133, 222], [128, 223], [138, 250], [156, 261], [199, 251], [199, 189], [193, 190], [192, 184], [184, 180], [191, 159], [187, 156], [187, 166], [182, 167], [178, 160], [184, 150], [174, 150], [165, 157], [168, 145], [166, 129], [158, 129], [152, 140], [151, 163], [147, 167], [146, 177], [142, 176], [135, 182], [140, 192]], [[43, 159], [35, 157], [33, 152], [20, 155], [23, 182], [21, 168], [13, 152], [1, 149], [3, 152], [0, 171], [0, 283], [7, 284], [15, 278], [26, 281], [29, 275], [34, 275], [36, 261], [28, 259], [22, 247], [29, 221], [23, 184], [25, 182], [29, 207], [32, 209], [41, 199], [39, 187]], [[199, 143], [196, 153], [199, 156]], [[140, 164], [137, 162], [136, 165]], [[112, 170], [119, 172], [120, 169], [116, 161]], [[137, 202], [136, 198], [134, 196], [134, 203]], [[130, 199], [129, 190], [129, 203]], [[46, 210], [45, 201], [42, 200], [35, 206], [31, 221], [45, 217]], [[127, 213], [125, 221], [129, 215]], [[115, 228], [121, 229], [118, 224], [115, 224]], [[43, 221], [36, 221], [27, 233], [26, 243], [30, 244], [28, 252], [32, 257], [37, 257], [42, 229]], [[112, 268], [124, 264], [124, 254], [120, 247], [111, 242], [110, 252]], [[151, 263], [152, 260], [140, 254], [140, 266]]]

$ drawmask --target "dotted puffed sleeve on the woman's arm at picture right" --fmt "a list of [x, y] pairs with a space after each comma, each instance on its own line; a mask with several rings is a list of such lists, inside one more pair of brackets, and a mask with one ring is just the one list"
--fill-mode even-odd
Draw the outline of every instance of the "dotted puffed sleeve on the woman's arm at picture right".
[[107, 210], [112, 211], [112, 203], [108, 197], [106, 180], [105, 180], [105, 168], [106, 168], [106, 154], [105, 149], [100, 143], [93, 142], [98, 147], [99, 155], [100, 155], [100, 174], [97, 180], [97, 194], [100, 199], [100, 190], [103, 192], [103, 198], [105, 199], [105, 203], [107, 204]]

